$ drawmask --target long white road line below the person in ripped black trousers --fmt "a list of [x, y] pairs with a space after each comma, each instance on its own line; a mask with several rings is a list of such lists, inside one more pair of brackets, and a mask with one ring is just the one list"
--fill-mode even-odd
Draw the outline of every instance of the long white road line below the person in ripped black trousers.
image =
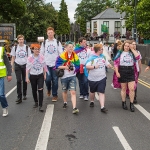
[[54, 105], [53, 104], [47, 105], [46, 113], [44, 116], [43, 124], [36, 143], [35, 150], [47, 150], [53, 111], [54, 111]]

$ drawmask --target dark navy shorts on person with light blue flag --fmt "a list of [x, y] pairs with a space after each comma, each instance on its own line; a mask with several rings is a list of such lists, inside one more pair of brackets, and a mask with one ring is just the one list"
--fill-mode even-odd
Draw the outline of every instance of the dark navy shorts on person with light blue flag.
[[89, 80], [89, 87], [90, 87], [90, 92], [95, 93], [105, 93], [105, 88], [106, 88], [106, 77], [100, 81], [90, 81]]

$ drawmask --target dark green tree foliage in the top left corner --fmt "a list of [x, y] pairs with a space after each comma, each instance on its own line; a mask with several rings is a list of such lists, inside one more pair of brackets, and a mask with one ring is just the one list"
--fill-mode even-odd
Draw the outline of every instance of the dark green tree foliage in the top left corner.
[[25, 2], [22, 0], [0, 0], [0, 15], [3, 19], [19, 18], [25, 13]]

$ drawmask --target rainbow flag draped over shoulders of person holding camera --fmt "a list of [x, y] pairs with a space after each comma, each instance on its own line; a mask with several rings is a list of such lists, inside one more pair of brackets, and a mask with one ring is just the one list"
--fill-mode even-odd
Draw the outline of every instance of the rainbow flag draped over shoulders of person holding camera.
[[72, 52], [69, 58], [68, 52], [63, 52], [57, 57], [54, 69], [57, 69], [59, 66], [65, 66], [65, 65], [70, 65], [70, 64], [74, 64], [75, 72], [79, 72], [80, 61], [79, 61], [78, 55], [75, 52]]

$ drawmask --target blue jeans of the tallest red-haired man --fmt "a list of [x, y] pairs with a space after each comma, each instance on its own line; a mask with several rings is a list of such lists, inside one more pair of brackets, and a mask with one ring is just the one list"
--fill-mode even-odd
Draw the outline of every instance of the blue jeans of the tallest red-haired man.
[[58, 90], [58, 77], [56, 76], [55, 70], [53, 70], [54, 67], [47, 66], [47, 69], [49, 73], [46, 73], [46, 87], [48, 91], [51, 91], [52, 89], [52, 95], [57, 96], [57, 90]]

